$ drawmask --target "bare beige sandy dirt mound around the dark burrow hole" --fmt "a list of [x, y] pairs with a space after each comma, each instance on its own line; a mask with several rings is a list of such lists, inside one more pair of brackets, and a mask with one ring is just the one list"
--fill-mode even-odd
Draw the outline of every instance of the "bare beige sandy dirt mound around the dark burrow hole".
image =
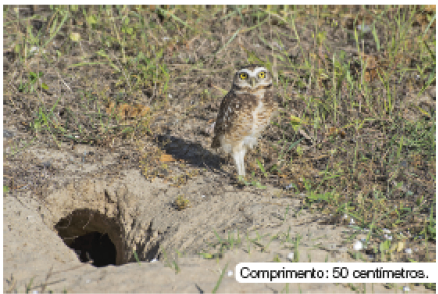
[[[239, 284], [235, 266], [244, 261], [289, 262], [292, 252], [304, 262], [355, 261], [348, 253], [351, 244], [343, 241], [345, 228], [320, 225], [314, 214], [300, 211], [299, 198], [278, 198], [274, 188], [217, 187], [214, 178], [206, 182], [198, 177], [178, 189], [160, 180], [146, 181], [138, 170], [121, 174], [117, 179], [71, 180], [49, 189], [43, 201], [32, 195], [4, 197], [3, 291], [205, 293], [215, 288], [225, 270], [218, 292], [271, 293], [286, 286]], [[179, 211], [173, 203], [181, 194], [190, 207]], [[234, 232], [237, 240], [237, 230], [241, 244], [236, 241], [222, 252], [208, 246], [218, 242], [215, 232], [223, 240]], [[67, 246], [79, 246], [75, 240], [92, 232], [101, 234], [95, 246], [105, 254], [111, 251], [102, 236], [109, 237], [115, 252], [107, 261], [117, 266], [95, 267], [92, 258], [81, 263], [81, 257], [99, 255], [84, 244], [77, 248], [89, 252]], [[258, 240], [248, 242], [247, 236]], [[134, 251], [141, 262], [136, 262]], [[398, 292], [383, 285], [366, 287]], [[354, 292], [334, 284], [290, 284], [288, 291]], [[417, 291], [427, 292], [422, 287], [415, 287]]]

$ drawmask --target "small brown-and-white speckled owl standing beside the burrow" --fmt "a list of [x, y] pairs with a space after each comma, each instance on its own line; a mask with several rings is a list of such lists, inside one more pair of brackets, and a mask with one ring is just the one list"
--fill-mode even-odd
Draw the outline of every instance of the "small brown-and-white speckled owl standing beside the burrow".
[[245, 176], [246, 150], [257, 144], [276, 109], [272, 76], [265, 67], [248, 65], [237, 71], [222, 100], [211, 147], [232, 154], [239, 176]]

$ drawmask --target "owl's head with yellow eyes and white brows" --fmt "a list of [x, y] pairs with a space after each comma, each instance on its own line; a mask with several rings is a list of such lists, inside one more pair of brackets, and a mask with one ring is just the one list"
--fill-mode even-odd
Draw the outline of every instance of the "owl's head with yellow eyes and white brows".
[[272, 75], [262, 65], [247, 65], [236, 72], [233, 88], [251, 92], [259, 89], [271, 89]]

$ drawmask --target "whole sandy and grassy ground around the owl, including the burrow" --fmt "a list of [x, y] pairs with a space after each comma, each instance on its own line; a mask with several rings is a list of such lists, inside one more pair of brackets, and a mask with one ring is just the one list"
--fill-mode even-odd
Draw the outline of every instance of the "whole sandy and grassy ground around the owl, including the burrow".
[[[435, 8], [156, 9], [5, 9], [3, 290], [431, 293], [229, 271], [436, 261]], [[281, 106], [238, 182], [208, 127], [247, 63]]]

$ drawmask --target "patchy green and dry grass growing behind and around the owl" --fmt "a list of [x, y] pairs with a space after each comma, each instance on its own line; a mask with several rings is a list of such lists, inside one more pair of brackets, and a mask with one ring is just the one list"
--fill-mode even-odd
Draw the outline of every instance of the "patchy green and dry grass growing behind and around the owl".
[[[273, 72], [280, 109], [252, 154], [245, 188], [290, 186], [280, 197], [305, 193], [302, 209], [348, 215], [354, 228], [369, 230], [367, 242], [382, 259], [394, 251], [394, 243], [380, 239], [383, 228], [409, 232], [402, 241], [425, 250], [427, 242], [435, 246], [436, 113], [424, 98], [436, 84], [435, 11], [74, 5], [34, 15], [5, 6], [3, 15], [11, 59], [5, 111], [18, 113], [17, 123], [38, 142], [130, 146], [154, 178], [161, 153], [144, 146], [165, 127], [154, 123], [206, 113], [238, 66], [261, 63]], [[124, 119], [124, 104], [150, 111]], [[31, 143], [8, 143], [7, 156]], [[197, 176], [198, 167], [185, 168]], [[187, 181], [172, 176], [175, 185]], [[269, 248], [265, 237], [230, 234], [215, 233], [220, 254], [236, 246], [248, 253]], [[298, 248], [299, 237], [282, 239], [290, 240]], [[176, 263], [169, 266], [178, 271]]]

